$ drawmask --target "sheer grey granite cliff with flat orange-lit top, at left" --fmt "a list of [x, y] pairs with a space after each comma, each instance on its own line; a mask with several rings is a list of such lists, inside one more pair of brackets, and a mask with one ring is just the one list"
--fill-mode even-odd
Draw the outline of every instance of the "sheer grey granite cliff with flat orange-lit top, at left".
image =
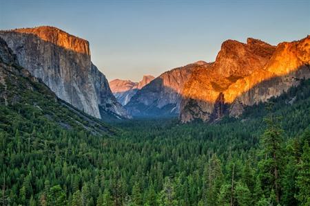
[[0, 31], [19, 64], [54, 93], [94, 117], [130, 117], [91, 62], [89, 43], [55, 27]]

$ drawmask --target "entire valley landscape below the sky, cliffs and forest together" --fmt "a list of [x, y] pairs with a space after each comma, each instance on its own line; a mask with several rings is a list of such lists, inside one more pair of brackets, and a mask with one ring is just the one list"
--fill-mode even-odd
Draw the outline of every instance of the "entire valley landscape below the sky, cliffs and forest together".
[[[56, 27], [0, 31], [2, 205], [307, 205], [310, 36], [112, 80]], [[104, 71], [104, 70], [103, 70]]]

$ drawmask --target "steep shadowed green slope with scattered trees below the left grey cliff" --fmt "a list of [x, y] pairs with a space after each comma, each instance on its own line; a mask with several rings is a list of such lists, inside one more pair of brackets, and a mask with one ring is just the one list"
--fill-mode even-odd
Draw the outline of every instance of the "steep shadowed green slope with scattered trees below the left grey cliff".
[[[60, 100], [38, 78], [19, 65], [5, 41], [0, 38], [0, 130], [12, 125], [25, 130], [52, 126], [85, 133], [110, 134], [114, 129]], [[15, 131], [14, 131], [15, 132]]]

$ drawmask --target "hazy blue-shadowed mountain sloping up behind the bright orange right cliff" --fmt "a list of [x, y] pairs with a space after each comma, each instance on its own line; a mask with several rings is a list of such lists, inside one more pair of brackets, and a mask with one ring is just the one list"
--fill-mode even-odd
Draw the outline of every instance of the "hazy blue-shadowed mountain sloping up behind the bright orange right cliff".
[[200, 61], [161, 74], [137, 91], [125, 108], [135, 117], [178, 115], [180, 102], [183, 98], [181, 91], [185, 82], [194, 69], [206, 65], [208, 65], [207, 62]]

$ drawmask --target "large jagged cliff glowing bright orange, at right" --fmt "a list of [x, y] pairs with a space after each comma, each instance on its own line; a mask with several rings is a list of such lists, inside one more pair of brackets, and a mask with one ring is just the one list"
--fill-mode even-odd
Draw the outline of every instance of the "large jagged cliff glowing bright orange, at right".
[[266, 102], [310, 78], [310, 36], [274, 47], [248, 38], [225, 41], [208, 67], [196, 69], [183, 88], [180, 120], [238, 117], [244, 106]]

